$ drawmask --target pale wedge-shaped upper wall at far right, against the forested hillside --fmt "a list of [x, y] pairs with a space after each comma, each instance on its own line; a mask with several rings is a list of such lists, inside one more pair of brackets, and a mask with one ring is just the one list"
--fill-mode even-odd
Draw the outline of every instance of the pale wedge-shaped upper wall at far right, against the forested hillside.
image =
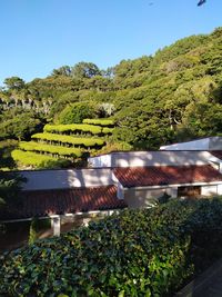
[[162, 146], [160, 150], [222, 150], [222, 137], [208, 137], [203, 139]]

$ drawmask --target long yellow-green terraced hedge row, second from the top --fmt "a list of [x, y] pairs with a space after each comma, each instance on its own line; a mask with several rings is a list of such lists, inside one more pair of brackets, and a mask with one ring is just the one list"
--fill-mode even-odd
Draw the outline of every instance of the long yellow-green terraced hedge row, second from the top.
[[112, 128], [93, 126], [88, 123], [72, 123], [72, 125], [46, 125], [44, 132], [90, 132], [92, 135], [112, 133]]

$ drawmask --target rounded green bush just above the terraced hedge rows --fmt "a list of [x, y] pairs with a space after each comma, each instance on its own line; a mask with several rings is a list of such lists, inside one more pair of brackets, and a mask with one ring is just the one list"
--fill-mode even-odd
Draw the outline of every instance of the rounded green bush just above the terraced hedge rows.
[[94, 107], [89, 102], [78, 102], [67, 106], [59, 115], [60, 123], [81, 123], [85, 118], [95, 116]]

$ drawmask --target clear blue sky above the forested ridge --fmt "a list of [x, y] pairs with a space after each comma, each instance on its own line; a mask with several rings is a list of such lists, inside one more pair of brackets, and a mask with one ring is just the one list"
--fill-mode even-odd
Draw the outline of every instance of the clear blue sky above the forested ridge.
[[222, 0], [0, 0], [0, 86], [63, 65], [105, 69], [222, 26]]

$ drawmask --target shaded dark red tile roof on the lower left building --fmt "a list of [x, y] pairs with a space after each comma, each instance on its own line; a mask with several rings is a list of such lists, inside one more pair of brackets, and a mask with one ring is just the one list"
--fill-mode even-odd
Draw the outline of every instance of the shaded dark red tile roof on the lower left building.
[[9, 206], [9, 211], [0, 214], [0, 217], [18, 219], [127, 207], [117, 198], [115, 186], [27, 191], [21, 201], [17, 208]]

